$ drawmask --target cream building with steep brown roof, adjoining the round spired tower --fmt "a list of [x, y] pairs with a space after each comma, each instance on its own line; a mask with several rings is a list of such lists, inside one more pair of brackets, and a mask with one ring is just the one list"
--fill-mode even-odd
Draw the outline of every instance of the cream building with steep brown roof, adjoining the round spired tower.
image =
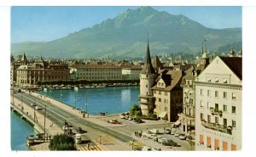
[[177, 114], [183, 111], [183, 89], [180, 87], [182, 71], [163, 70], [152, 87], [154, 114], [166, 121], [177, 121]]

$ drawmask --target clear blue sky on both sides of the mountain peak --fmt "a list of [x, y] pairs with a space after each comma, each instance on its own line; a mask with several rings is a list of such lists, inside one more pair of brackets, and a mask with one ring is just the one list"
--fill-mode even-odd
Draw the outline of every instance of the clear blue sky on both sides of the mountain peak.
[[[49, 42], [113, 19], [127, 8], [137, 7], [12, 7], [11, 42]], [[153, 8], [170, 14], [183, 14], [209, 28], [241, 27], [241, 7]]]

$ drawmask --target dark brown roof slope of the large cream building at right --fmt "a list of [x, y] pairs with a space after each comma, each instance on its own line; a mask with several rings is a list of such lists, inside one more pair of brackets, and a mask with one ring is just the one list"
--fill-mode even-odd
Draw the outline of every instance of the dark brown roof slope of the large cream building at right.
[[242, 80], [242, 59], [241, 57], [219, 57]]

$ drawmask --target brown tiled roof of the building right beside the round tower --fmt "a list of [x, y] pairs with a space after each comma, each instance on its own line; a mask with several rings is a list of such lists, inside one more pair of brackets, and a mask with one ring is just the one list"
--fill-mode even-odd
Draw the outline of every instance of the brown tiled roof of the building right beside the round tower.
[[[171, 80], [170, 80], [170, 84], [168, 86], [166, 86], [166, 88], [158, 88], [157, 85], [154, 85], [154, 87], [152, 87], [152, 89], [160, 89], [163, 91], [172, 91], [172, 89], [174, 87], [178, 87], [179, 82], [182, 81], [183, 78], [183, 72], [180, 70], [168, 70], [166, 72], [166, 74], [162, 74], [163, 76], [169, 75], [171, 76]], [[158, 79], [157, 81], [159, 81], [160, 79]]]

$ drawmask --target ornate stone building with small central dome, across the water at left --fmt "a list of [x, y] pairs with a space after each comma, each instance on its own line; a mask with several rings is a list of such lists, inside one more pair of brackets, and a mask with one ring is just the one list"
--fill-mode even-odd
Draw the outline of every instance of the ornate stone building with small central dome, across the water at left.
[[67, 64], [53, 64], [44, 59], [32, 64], [22, 64], [16, 69], [16, 84], [21, 87], [36, 85], [38, 81], [63, 81], [70, 79]]

